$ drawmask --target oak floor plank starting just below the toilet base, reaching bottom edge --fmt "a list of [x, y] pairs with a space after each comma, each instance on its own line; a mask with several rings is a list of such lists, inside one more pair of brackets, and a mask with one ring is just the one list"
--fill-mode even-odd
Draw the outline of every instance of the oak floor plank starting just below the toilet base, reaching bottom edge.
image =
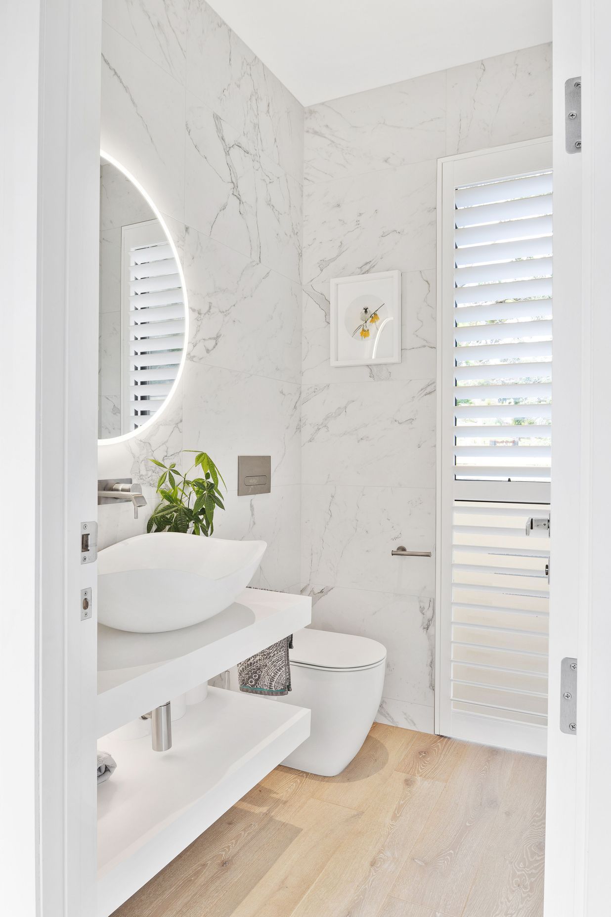
[[[306, 801], [293, 820], [300, 834], [231, 912], [232, 917], [287, 917], [292, 914], [361, 818], [361, 812], [345, 806], [317, 799]], [[263, 830], [261, 844], [265, 843]]]

